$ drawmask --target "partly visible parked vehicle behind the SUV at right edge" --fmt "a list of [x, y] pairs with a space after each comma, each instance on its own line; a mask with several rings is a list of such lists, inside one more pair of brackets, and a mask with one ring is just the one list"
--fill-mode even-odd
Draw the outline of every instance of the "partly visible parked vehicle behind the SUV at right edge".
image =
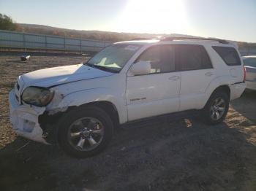
[[243, 56], [246, 69], [246, 88], [256, 90], [256, 55]]

